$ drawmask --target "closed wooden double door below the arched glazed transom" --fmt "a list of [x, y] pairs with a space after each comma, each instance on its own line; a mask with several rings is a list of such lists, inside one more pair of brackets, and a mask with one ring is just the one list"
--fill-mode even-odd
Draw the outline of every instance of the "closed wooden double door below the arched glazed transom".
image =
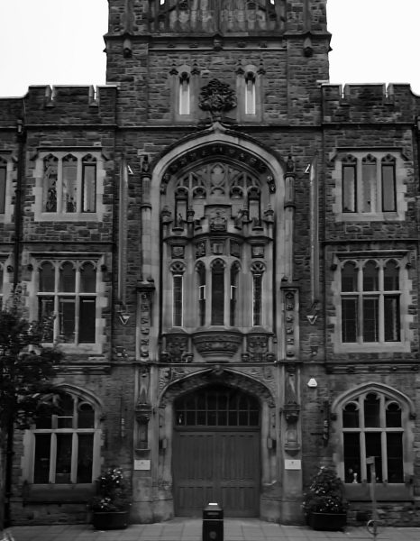
[[201, 516], [210, 501], [227, 517], [258, 517], [260, 432], [177, 429], [174, 496], [178, 516]]

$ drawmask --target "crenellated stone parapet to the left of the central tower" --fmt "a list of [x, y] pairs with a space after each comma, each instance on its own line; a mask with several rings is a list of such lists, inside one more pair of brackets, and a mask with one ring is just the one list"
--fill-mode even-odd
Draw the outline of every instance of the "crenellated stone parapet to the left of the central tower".
[[116, 85], [31, 86], [23, 97], [0, 99], [0, 125], [115, 124]]

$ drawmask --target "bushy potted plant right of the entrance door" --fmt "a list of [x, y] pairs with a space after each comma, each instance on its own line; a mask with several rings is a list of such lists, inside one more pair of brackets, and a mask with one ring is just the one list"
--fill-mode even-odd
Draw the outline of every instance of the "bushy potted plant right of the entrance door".
[[347, 501], [342, 480], [331, 468], [322, 466], [304, 495], [303, 509], [310, 527], [338, 530], [347, 523]]

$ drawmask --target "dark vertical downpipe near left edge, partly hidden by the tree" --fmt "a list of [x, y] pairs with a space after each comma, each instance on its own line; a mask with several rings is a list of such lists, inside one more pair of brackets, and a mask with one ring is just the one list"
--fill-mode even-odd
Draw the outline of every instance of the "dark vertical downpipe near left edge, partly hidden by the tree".
[[[22, 244], [22, 185], [24, 175], [24, 151], [26, 131], [23, 120], [16, 123], [16, 136], [18, 143], [17, 178], [14, 192], [14, 294], [19, 284], [20, 255]], [[11, 526], [12, 517], [10, 500], [12, 497], [12, 472], [14, 464], [14, 411], [9, 412], [7, 420], [7, 441], [5, 448], [5, 527]]]

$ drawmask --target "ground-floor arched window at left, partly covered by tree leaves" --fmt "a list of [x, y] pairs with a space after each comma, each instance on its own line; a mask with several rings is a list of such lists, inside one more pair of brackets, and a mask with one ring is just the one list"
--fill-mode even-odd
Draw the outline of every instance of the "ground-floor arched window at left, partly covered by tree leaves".
[[96, 408], [71, 394], [50, 399], [58, 413], [40, 417], [31, 430], [33, 459], [30, 482], [92, 483], [99, 457], [99, 415]]

